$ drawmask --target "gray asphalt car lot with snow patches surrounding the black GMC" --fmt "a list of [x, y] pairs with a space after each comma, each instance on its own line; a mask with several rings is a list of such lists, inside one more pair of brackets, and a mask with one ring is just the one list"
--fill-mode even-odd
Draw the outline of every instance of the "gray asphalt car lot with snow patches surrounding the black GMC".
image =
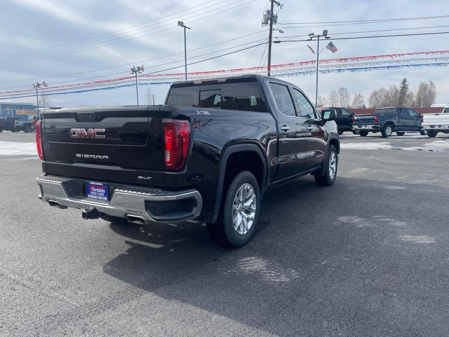
[[234, 250], [49, 207], [34, 139], [0, 133], [1, 336], [449, 335], [449, 137], [344, 133], [335, 185], [267, 192]]

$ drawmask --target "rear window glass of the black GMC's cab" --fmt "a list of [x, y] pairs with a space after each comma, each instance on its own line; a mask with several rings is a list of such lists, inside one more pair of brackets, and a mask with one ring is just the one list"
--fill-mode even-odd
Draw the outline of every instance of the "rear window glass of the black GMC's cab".
[[257, 82], [225, 83], [221, 84], [221, 89], [213, 90], [202, 90], [204, 87], [172, 88], [167, 105], [267, 112]]

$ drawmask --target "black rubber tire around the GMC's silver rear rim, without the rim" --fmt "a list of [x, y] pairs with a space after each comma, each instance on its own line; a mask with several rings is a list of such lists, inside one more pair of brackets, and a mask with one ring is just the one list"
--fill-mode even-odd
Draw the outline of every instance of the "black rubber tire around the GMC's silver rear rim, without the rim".
[[[256, 200], [255, 215], [252, 225], [248, 231], [245, 234], [239, 234], [236, 229], [234, 229], [233, 205], [238, 190], [244, 184], [249, 184], [253, 188]], [[217, 221], [215, 223], [206, 224], [209, 235], [212, 239], [225, 245], [226, 247], [238, 248], [244, 246], [251, 240], [255, 233], [260, 212], [260, 201], [259, 184], [257, 183], [254, 175], [249, 171], [242, 171], [238, 173], [232, 180], [227, 190], [224, 191]]]

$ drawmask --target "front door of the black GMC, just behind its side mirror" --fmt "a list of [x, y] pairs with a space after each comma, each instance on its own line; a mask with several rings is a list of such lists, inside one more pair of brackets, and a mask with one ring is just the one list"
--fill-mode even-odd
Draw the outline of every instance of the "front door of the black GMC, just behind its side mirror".
[[322, 126], [321, 118], [307, 96], [297, 88], [292, 90], [297, 105], [297, 115], [304, 121], [307, 130], [307, 159], [303, 171], [308, 171], [323, 164], [326, 152], [326, 126]]

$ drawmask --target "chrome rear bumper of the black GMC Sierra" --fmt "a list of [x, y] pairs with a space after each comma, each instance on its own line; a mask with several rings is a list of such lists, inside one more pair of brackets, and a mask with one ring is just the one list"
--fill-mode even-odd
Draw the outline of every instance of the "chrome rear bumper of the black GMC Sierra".
[[[130, 216], [145, 223], [185, 221], [198, 217], [202, 209], [202, 197], [196, 190], [169, 192], [140, 186], [123, 186], [110, 193], [110, 200], [102, 201], [89, 199], [79, 193], [70, 178], [42, 175], [36, 178], [36, 182], [40, 186], [39, 199], [51, 206], [96, 210], [114, 217]], [[179, 209], [179, 204], [175, 204], [174, 207], [178, 209], [169, 210], [166, 214], [155, 215], [149, 210], [149, 202], [160, 202], [162, 206], [162, 203], [176, 200], [184, 200], [189, 209]], [[153, 203], [152, 209], [155, 207], [158, 208]], [[170, 206], [165, 208], [170, 209]]]

